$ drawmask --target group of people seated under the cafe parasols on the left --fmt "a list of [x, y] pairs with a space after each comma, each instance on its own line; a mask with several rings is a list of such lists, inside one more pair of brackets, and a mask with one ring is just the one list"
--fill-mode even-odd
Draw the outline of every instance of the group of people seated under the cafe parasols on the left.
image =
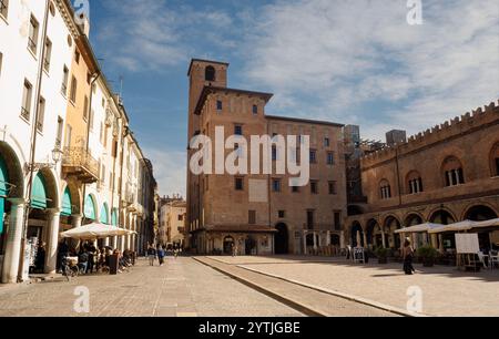
[[78, 267], [80, 274], [93, 274], [109, 271], [111, 267], [111, 256], [118, 257], [118, 271], [128, 270], [133, 265], [133, 253], [129, 249], [123, 253], [119, 249], [112, 249], [109, 246], [96, 247], [95, 243], [86, 242], [80, 244], [79, 250], [70, 248], [65, 239], [59, 244], [57, 269], [62, 271], [64, 259], [68, 257], [78, 257]]

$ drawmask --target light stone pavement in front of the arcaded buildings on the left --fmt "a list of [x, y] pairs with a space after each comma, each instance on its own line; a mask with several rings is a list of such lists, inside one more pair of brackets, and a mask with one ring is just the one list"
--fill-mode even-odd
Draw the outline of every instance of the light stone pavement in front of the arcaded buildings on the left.
[[[90, 314], [77, 314], [74, 289], [90, 290]], [[0, 288], [0, 316], [273, 317], [303, 316], [189, 257], [169, 257], [163, 267], [145, 259], [131, 273], [83, 276]]]

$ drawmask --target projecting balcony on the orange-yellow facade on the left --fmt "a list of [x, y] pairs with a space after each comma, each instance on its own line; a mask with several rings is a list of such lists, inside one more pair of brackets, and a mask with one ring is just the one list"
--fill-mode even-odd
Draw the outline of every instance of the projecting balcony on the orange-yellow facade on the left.
[[92, 184], [99, 181], [99, 163], [83, 147], [65, 147], [62, 173], [75, 176], [84, 184]]

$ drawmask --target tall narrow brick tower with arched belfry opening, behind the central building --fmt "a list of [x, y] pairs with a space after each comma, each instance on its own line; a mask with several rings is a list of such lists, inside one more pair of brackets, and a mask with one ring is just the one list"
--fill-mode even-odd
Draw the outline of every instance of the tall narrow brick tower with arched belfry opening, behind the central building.
[[[191, 138], [201, 132], [200, 116], [194, 113], [200, 95], [205, 86], [227, 86], [228, 63], [193, 59], [189, 66], [189, 134], [187, 144]], [[189, 170], [189, 161], [193, 151], [187, 151], [187, 223], [186, 227], [192, 229], [195, 223], [201, 220], [200, 208], [200, 178]]]

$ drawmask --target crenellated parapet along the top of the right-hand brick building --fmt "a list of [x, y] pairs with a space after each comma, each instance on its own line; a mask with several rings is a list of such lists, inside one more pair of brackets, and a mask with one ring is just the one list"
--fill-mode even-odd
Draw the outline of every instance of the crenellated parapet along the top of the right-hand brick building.
[[468, 112], [461, 116], [456, 116], [450, 121], [446, 121], [442, 124], [432, 126], [431, 129], [413, 135], [404, 144], [386, 146], [377, 152], [367, 154], [361, 158], [361, 166], [369, 167], [371, 165], [389, 161], [396, 156], [397, 152], [399, 155], [406, 154], [490, 124], [497, 120], [499, 120], [499, 101], [497, 103], [491, 102], [485, 107], [478, 107], [471, 113]]

